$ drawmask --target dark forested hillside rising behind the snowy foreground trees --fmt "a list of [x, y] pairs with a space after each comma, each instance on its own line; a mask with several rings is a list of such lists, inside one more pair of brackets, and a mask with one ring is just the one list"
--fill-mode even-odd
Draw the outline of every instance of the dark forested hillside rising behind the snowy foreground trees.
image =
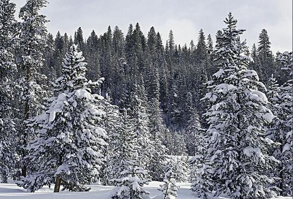
[[[175, 44], [172, 30], [163, 44], [154, 27], [145, 36], [139, 23], [130, 24], [125, 34], [117, 26], [113, 31], [109, 26], [101, 36], [93, 30], [87, 39], [81, 28], [74, 36], [66, 33], [62, 36], [58, 32], [53, 37], [49, 33], [43, 73], [49, 81], [59, 77], [64, 55], [73, 43], [77, 44], [87, 61], [86, 77], [90, 80], [105, 78], [101, 87], [103, 96], [107, 95], [121, 111], [132, 107], [131, 92], [138, 85], [143, 86], [145, 94], [141, 98], [148, 102], [145, 108], [149, 118], [161, 126], [166, 136], [164, 144], [172, 147], [172, 154], [192, 155], [190, 146], [194, 141], [188, 131], [194, 125], [206, 126], [202, 117], [206, 107], [200, 99], [207, 92], [204, 83], [212, 80], [219, 70], [214, 59], [223, 42], [222, 34], [219, 30], [213, 41], [211, 35], [201, 29], [194, 41], [181, 46]], [[261, 30], [258, 43], [245, 51], [245, 55], [254, 60], [248, 68], [255, 70], [265, 85], [272, 76], [281, 85], [287, 75], [281, 70], [282, 65], [276, 59], [278, 55], [273, 55], [270, 45], [267, 31]]]

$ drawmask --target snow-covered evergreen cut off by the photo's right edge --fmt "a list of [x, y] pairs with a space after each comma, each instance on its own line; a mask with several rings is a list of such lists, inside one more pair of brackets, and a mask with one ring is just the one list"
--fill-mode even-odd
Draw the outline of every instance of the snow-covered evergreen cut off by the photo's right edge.
[[280, 145], [274, 150], [274, 157], [281, 161], [281, 164], [274, 169], [277, 186], [281, 189], [282, 196], [292, 196], [292, 52], [284, 52], [277, 57], [281, 61], [283, 70], [288, 74], [288, 81], [285, 82], [279, 91], [276, 106], [278, 120], [269, 129], [268, 137]]

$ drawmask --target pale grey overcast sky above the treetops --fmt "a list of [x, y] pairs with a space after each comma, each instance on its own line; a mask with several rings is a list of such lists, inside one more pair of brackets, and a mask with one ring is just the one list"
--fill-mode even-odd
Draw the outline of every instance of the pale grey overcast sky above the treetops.
[[[247, 39], [251, 48], [257, 43], [261, 29], [266, 29], [272, 43], [272, 51], [292, 50], [292, 1], [293, 0], [48, 0], [42, 9], [50, 22], [48, 31], [54, 36], [59, 30], [73, 35], [81, 27], [84, 37], [92, 30], [97, 35], [112, 30], [117, 25], [127, 33], [130, 23], [139, 22], [144, 34], [151, 26], [162, 35], [163, 43], [172, 29], [177, 44], [197, 41], [199, 29], [206, 36], [224, 27], [223, 20], [232, 11], [238, 20], [238, 28], [247, 31], [241, 39]], [[25, 0], [12, 0], [19, 8]]]

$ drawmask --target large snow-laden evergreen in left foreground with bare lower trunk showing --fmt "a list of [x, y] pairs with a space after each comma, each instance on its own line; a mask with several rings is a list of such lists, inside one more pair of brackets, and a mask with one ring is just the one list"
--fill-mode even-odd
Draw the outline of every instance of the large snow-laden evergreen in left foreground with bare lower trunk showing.
[[29, 124], [37, 137], [26, 148], [26, 159], [37, 163], [37, 171], [18, 183], [31, 192], [55, 182], [54, 192], [88, 191], [84, 184], [99, 175], [107, 145], [106, 131], [100, 126], [105, 112], [103, 97], [92, 94], [92, 82], [85, 78], [86, 63], [73, 45], [63, 61], [62, 76], [56, 80], [56, 95], [46, 100], [44, 111]]

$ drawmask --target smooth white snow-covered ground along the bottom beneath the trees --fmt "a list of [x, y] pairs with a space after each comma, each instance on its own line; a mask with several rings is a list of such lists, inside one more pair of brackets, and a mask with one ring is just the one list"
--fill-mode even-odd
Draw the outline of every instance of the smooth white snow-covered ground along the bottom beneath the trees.
[[[150, 192], [148, 199], [163, 199], [162, 192], [157, 187], [162, 182], [150, 182], [146, 186]], [[198, 199], [197, 194], [189, 190], [190, 183], [178, 183], [180, 189], [177, 199]], [[54, 186], [43, 187], [36, 193], [28, 193], [15, 184], [0, 184], [0, 199], [110, 199], [110, 193], [113, 187], [93, 184], [89, 192], [61, 192], [53, 193]], [[210, 199], [227, 199], [226, 197], [210, 197]], [[279, 198], [281, 199], [281, 198]], [[290, 197], [282, 197], [282, 199], [291, 199]]]

